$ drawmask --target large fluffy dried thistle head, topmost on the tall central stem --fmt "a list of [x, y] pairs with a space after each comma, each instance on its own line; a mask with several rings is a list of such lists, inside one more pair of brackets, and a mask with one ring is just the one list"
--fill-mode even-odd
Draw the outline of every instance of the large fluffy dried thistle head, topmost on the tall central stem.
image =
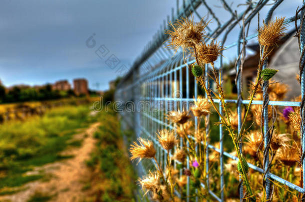
[[194, 22], [193, 16], [188, 18], [182, 17], [176, 23], [169, 25], [172, 30], [166, 30], [165, 33], [169, 34], [169, 47], [177, 51], [181, 46], [183, 52], [186, 49], [192, 48], [194, 45], [200, 43], [203, 37], [206, 36], [204, 28], [209, 22], [205, 22], [203, 18], [199, 22]]

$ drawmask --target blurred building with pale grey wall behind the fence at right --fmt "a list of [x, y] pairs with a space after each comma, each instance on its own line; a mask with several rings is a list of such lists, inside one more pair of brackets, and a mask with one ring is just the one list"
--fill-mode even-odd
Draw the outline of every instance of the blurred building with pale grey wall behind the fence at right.
[[[268, 68], [278, 69], [279, 71], [272, 77], [276, 82], [284, 83], [288, 86], [288, 92], [284, 101], [289, 101], [300, 93], [300, 84], [296, 79], [296, 74], [299, 74], [299, 50], [297, 38], [294, 37], [295, 29], [292, 29], [283, 36], [277, 47], [273, 47], [273, 51], [268, 55]], [[255, 52], [248, 56], [242, 67], [242, 89], [244, 93], [249, 91], [251, 82], [256, 79], [257, 66], [260, 58], [259, 44], [249, 44], [246, 46]], [[234, 67], [228, 71], [230, 82], [233, 86], [232, 93], [237, 93], [235, 86], [236, 70]]]

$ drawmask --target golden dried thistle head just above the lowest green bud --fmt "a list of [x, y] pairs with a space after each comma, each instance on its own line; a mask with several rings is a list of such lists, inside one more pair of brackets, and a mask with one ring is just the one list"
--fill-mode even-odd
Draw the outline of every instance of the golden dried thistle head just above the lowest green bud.
[[257, 151], [261, 150], [263, 147], [263, 144], [261, 142], [263, 141], [262, 135], [260, 131], [250, 131], [245, 134], [245, 145], [244, 152], [252, 156], [254, 159], [257, 158]]

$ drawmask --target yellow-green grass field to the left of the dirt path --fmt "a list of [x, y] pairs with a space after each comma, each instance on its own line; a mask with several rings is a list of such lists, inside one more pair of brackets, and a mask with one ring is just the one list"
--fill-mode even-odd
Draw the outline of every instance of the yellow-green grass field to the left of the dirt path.
[[70, 141], [79, 128], [96, 121], [88, 106], [53, 108], [42, 117], [25, 122], [11, 121], [0, 125], [0, 189], [19, 187], [43, 175], [24, 175], [42, 166], [72, 156], [59, 152], [67, 146], [78, 147], [81, 141]]

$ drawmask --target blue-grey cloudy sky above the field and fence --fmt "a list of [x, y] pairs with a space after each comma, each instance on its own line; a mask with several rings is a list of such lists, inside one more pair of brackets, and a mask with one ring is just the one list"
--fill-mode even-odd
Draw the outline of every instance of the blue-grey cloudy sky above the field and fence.
[[[227, 1], [238, 11], [242, 6], [237, 4], [244, 0]], [[219, 0], [207, 2], [218, 9]], [[74, 78], [86, 78], [89, 88], [95, 90], [106, 90], [108, 82], [119, 76], [121, 65], [131, 66], [171, 13], [171, 7], [176, 6], [175, 0], [0, 3], [0, 80], [5, 86], [41, 85], [61, 79], [72, 83]], [[300, 4], [301, 0], [284, 0], [274, 16], [292, 16]], [[261, 11], [261, 16], [266, 10]], [[227, 19], [221, 10], [217, 16], [221, 22]], [[250, 31], [255, 31], [255, 27]], [[230, 36], [228, 42], [235, 37]], [[110, 56], [120, 61], [117, 67], [107, 65]]]

